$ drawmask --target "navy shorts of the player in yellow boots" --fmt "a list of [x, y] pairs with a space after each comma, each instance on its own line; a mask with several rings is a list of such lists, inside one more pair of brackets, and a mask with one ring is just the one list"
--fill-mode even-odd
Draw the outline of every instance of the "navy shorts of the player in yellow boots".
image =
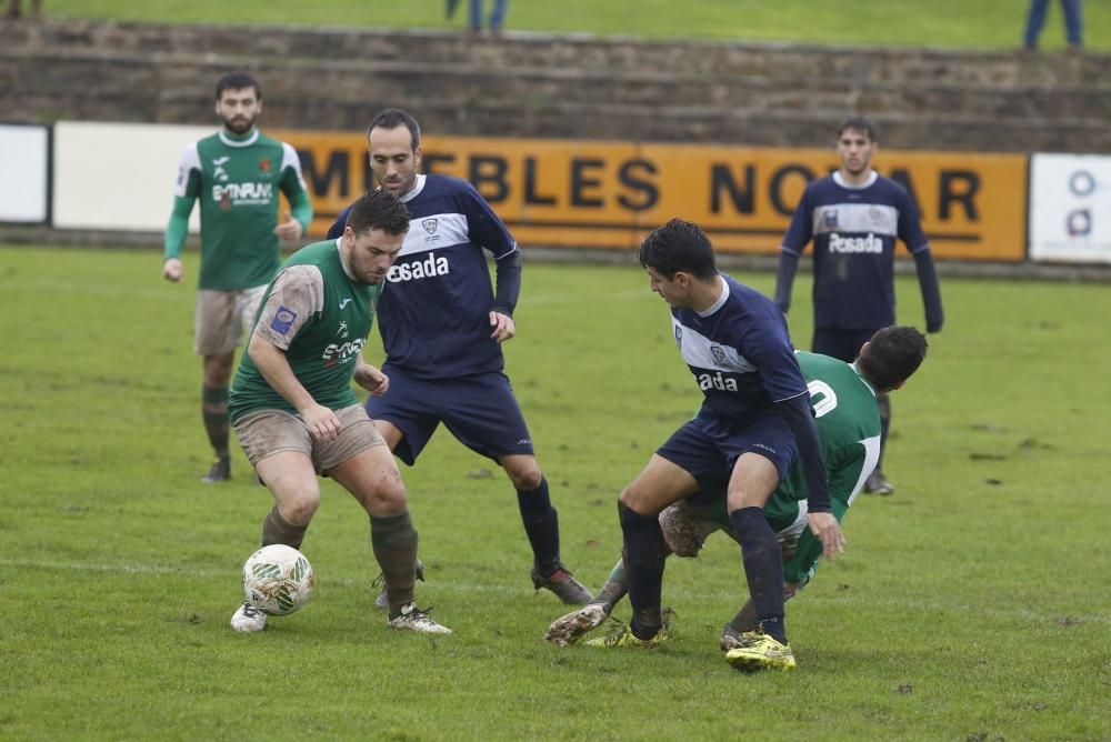
[[780, 480], [798, 449], [787, 420], [768, 407], [744, 420], [722, 420], [704, 410], [677, 430], [657, 453], [685, 469], [704, 490], [728, 483], [742, 453], [759, 453], [775, 465]]

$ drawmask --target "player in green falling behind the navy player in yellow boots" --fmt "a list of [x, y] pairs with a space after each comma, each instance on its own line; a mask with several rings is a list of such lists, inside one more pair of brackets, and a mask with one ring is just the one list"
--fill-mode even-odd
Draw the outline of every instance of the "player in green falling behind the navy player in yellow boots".
[[[888, 327], [872, 335], [852, 364], [828, 355], [798, 353], [817, 418], [832, 512], [838, 522], [844, 519], [879, 460], [877, 394], [902, 387], [918, 370], [925, 350], [925, 337], [914, 328]], [[660, 513], [668, 548], [680, 556], [694, 556], [710, 533], [721, 529], [732, 535], [725, 510], [724, 482], [668, 508]], [[813, 576], [822, 553], [821, 541], [807, 528], [807, 485], [798, 461], [792, 463], [763, 510], [782, 549], [784, 596], [791, 598]], [[625, 592], [624, 565], [618, 561], [594, 602], [557, 619], [544, 638], [561, 646], [575, 642], [600, 625]], [[742, 670], [769, 666], [765, 658], [753, 654], [757, 626], [750, 600], [722, 630], [721, 648], [733, 666]], [[594, 641], [604, 643], [605, 639]]]

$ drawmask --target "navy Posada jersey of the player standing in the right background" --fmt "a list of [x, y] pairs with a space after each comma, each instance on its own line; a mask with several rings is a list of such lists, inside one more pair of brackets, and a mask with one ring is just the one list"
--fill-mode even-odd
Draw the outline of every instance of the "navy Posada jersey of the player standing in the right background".
[[877, 329], [894, 324], [894, 249], [929, 250], [905, 188], [878, 173], [860, 187], [840, 173], [811, 181], [791, 218], [783, 251], [814, 241], [814, 327]]

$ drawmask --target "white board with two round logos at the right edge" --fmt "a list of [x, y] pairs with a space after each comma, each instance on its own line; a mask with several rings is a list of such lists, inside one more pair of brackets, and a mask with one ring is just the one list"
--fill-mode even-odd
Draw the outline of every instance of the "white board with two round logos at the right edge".
[[1030, 259], [1111, 263], [1111, 157], [1030, 159]]

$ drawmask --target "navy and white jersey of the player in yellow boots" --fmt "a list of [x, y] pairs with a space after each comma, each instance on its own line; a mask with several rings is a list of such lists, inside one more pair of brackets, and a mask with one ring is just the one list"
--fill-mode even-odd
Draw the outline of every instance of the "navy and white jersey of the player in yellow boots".
[[735, 421], [808, 393], [783, 313], [755, 289], [721, 278], [710, 309], [671, 309], [679, 351], [705, 395], [700, 415]]

